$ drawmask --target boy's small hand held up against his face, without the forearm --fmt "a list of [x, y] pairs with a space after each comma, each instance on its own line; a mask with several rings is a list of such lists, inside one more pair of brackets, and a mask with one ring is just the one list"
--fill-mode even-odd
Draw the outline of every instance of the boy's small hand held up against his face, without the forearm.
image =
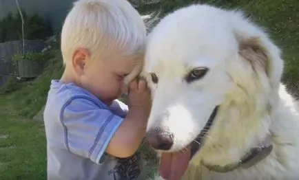
[[141, 79], [134, 79], [129, 84], [128, 105], [141, 107], [149, 111], [151, 106], [150, 92], [147, 89], [147, 82]]

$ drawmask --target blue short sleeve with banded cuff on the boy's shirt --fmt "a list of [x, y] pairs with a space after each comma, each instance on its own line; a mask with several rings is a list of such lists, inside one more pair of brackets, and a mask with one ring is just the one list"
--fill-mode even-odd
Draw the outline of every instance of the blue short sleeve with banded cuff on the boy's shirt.
[[99, 159], [123, 118], [103, 109], [92, 99], [69, 100], [61, 111], [65, 129], [65, 146], [72, 153], [99, 164]]

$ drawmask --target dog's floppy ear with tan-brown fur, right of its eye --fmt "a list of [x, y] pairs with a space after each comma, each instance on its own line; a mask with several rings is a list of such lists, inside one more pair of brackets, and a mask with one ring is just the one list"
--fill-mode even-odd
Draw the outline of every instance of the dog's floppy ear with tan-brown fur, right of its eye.
[[262, 68], [272, 88], [278, 88], [283, 71], [280, 49], [265, 32], [246, 23], [235, 29], [239, 54], [248, 60], [254, 71]]

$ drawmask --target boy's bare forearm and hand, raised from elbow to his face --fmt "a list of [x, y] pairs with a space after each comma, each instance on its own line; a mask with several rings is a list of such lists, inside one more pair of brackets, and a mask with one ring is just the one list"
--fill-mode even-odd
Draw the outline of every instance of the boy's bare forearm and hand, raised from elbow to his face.
[[147, 119], [152, 105], [147, 82], [132, 80], [127, 98], [129, 111], [106, 149], [106, 152], [114, 157], [134, 155], [146, 133]]

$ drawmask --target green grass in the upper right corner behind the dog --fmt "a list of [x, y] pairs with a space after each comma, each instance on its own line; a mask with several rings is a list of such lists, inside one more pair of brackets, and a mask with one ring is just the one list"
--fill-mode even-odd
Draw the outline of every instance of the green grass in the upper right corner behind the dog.
[[245, 10], [264, 27], [282, 49], [285, 72], [282, 77], [292, 93], [299, 97], [299, 2], [296, 0], [251, 1]]

